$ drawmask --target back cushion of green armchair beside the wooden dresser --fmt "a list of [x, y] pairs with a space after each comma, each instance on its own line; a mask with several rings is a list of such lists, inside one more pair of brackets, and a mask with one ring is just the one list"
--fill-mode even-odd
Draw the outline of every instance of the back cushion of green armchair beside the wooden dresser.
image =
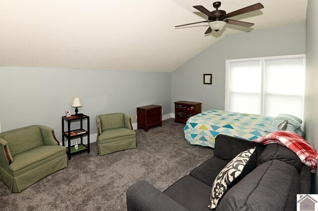
[[123, 113], [110, 113], [99, 115], [101, 122], [101, 131], [125, 127], [124, 114]]

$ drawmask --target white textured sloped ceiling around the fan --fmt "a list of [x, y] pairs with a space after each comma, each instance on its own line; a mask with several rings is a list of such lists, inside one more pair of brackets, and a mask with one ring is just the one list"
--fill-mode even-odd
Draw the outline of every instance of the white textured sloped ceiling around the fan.
[[171, 72], [224, 36], [306, 21], [307, 0], [223, 0], [228, 13], [261, 2], [264, 8], [204, 35], [193, 5], [213, 0], [1, 0], [0, 66]]

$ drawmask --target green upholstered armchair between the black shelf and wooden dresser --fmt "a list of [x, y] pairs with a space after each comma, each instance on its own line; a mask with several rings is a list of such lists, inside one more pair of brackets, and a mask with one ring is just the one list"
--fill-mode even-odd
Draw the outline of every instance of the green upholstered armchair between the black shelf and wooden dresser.
[[98, 155], [136, 148], [136, 132], [126, 113], [109, 113], [96, 116]]

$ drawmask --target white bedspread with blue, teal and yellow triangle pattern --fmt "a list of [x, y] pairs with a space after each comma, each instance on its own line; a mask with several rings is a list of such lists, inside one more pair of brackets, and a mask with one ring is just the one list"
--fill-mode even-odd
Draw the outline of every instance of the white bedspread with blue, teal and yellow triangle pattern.
[[213, 109], [191, 116], [183, 130], [190, 144], [214, 148], [220, 133], [249, 141], [267, 135], [265, 129], [273, 118]]

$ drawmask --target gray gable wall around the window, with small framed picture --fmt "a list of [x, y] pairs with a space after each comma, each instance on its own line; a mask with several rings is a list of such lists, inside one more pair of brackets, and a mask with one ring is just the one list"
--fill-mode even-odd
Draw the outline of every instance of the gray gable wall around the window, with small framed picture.
[[[204, 39], [204, 37], [202, 37]], [[304, 54], [306, 25], [297, 24], [225, 37], [172, 72], [172, 105], [184, 100], [202, 103], [202, 110], [224, 109], [225, 60]], [[212, 85], [203, 74], [212, 73]]]

